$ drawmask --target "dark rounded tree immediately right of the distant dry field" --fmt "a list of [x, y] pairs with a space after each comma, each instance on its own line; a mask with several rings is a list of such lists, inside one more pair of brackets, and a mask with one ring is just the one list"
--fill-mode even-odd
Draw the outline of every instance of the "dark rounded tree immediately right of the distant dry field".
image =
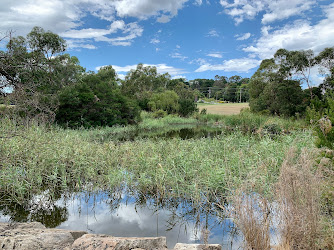
[[255, 112], [294, 116], [305, 110], [300, 81], [291, 80], [291, 67], [286, 63], [286, 51], [278, 51], [276, 58], [261, 62], [249, 83], [250, 108]]

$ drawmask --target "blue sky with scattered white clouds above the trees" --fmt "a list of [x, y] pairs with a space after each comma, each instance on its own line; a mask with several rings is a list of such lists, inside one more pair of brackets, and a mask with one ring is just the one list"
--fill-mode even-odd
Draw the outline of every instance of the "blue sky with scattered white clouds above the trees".
[[[87, 70], [251, 77], [280, 49], [334, 46], [333, 0], [0, 0], [0, 34], [59, 34]], [[314, 85], [323, 76], [312, 70]]]

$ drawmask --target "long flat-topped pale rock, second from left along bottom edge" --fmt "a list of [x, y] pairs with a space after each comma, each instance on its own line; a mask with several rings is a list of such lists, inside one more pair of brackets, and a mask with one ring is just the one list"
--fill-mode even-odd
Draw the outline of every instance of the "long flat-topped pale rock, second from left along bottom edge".
[[73, 245], [73, 250], [128, 250], [128, 249], [167, 249], [165, 237], [146, 237], [146, 238], [125, 238], [112, 237], [109, 235], [86, 234], [77, 239]]

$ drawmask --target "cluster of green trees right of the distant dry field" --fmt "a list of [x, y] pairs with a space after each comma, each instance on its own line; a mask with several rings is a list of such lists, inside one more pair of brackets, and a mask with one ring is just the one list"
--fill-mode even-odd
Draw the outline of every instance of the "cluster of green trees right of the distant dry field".
[[[263, 60], [249, 84], [251, 110], [295, 116], [304, 114], [309, 105], [325, 105], [326, 93], [334, 86], [333, 52], [326, 48], [315, 56], [311, 50], [279, 49], [273, 58]], [[318, 87], [311, 81], [311, 70], [316, 68], [325, 75]], [[307, 86], [305, 90], [302, 84]]]

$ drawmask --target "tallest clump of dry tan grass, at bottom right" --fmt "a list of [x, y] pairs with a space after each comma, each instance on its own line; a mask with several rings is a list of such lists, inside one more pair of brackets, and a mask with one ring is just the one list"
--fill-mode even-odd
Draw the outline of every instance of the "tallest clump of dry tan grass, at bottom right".
[[313, 159], [306, 150], [296, 159], [295, 150], [290, 150], [281, 168], [277, 184], [279, 229], [281, 244], [289, 249], [319, 249], [322, 238], [323, 182], [319, 171], [313, 172]]

